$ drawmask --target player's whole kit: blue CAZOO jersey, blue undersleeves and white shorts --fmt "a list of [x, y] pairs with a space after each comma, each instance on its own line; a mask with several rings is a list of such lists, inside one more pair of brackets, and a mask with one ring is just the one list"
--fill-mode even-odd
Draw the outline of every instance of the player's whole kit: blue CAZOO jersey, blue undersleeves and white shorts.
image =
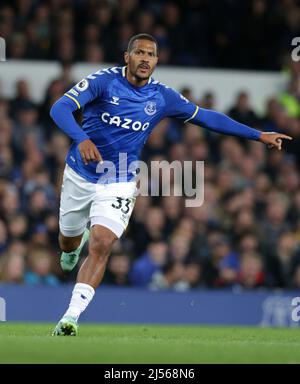
[[[73, 117], [80, 108], [82, 127]], [[126, 78], [126, 67], [102, 69], [87, 76], [53, 105], [50, 114], [73, 139], [60, 205], [60, 230], [70, 237], [81, 234], [89, 220], [91, 225], [100, 224], [118, 237], [122, 235], [135, 201], [135, 172], [127, 165], [138, 162], [148, 136], [165, 117], [247, 139], [260, 137], [256, 129], [199, 108], [153, 78], [142, 87], [132, 85]], [[100, 164], [84, 164], [78, 144], [87, 139], [97, 146], [104, 162], [114, 164], [112, 178]], [[120, 154], [126, 155], [126, 164], [119, 163]]]

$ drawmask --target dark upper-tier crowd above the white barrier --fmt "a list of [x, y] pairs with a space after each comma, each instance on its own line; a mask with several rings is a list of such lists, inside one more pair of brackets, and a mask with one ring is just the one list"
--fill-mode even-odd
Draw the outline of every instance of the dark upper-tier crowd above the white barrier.
[[[2, 0], [8, 58], [121, 62], [154, 35], [160, 63], [280, 69], [300, 35], [299, 0]], [[113, 47], [113, 49], [112, 49]]]

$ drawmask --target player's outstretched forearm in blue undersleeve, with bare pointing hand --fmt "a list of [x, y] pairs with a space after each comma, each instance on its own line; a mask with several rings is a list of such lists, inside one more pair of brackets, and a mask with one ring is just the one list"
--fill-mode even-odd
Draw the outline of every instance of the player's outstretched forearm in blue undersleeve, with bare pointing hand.
[[276, 147], [279, 150], [281, 150], [283, 139], [292, 140], [290, 136], [282, 133], [258, 131], [245, 124], [238, 123], [223, 113], [199, 107], [196, 108], [195, 116], [190, 122], [212, 131], [261, 141], [267, 144], [268, 147]]

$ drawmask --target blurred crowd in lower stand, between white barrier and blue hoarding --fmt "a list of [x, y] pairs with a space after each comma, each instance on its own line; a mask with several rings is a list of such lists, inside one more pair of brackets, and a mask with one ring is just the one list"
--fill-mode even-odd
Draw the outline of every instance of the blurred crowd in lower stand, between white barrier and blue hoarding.
[[[74, 84], [70, 69], [62, 67], [41, 105], [25, 80], [17, 82], [12, 100], [0, 98], [1, 282], [58, 285], [76, 276], [60, 270], [57, 242], [70, 143], [49, 116], [53, 102]], [[204, 160], [204, 204], [187, 208], [185, 197], [138, 197], [104, 284], [300, 288], [300, 62], [289, 71], [286, 91], [267, 100], [264, 116], [252, 109], [246, 91], [225, 111], [261, 130], [291, 135], [283, 151], [170, 119], [156, 127], [143, 160]], [[181, 91], [215, 109], [213, 92], [195, 100], [192, 89]]]

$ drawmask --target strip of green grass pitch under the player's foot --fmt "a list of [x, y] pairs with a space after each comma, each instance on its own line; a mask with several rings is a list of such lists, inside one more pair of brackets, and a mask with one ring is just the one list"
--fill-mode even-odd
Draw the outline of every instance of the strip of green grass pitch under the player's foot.
[[300, 330], [88, 325], [52, 337], [54, 324], [0, 323], [0, 363], [300, 363]]

